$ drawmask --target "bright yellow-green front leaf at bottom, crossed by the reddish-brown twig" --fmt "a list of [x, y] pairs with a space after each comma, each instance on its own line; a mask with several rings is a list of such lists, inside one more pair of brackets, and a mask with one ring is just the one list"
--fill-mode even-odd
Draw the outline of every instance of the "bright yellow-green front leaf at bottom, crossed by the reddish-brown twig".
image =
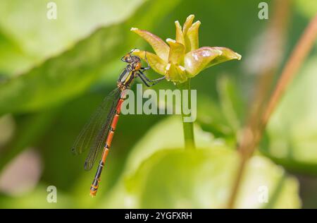
[[[232, 150], [161, 150], [147, 159], [125, 185], [136, 207], [223, 208], [237, 164], [237, 154]], [[284, 181], [281, 188], [280, 181]], [[259, 188], [263, 186], [271, 191], [271, 207], [300, 207], [297, 181], [263, 157], [253, 157], [249, 162], [235, 207], [266, 207], [266, 203], [259, 202]]]

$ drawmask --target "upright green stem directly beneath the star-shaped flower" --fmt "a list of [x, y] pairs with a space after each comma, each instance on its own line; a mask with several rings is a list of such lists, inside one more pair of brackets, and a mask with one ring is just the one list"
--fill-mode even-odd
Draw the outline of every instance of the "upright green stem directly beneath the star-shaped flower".
[[[182, 128], [184, 131], [184, 140], [185, 140], [185, 149], [186, 150], [194, 150], [195, 149], [195, 140], [194, 140], [194, 123], [193, 122], [185, 122], [184, 119], [189, 117], [190, 114], [184, 113], [183, 102], [188, 102], [189, 106], [191, 105], [191, 91], [190, 91], [190, 79], [188, 79], [185, 83], [181, 83], [177, 85], [180, 90], [188, 90], [187, 100], [185, 100], [184, 94], [182, 95], [181, 102], [181, 111], [182, 111]], [[192, 109], [189, 107], [189, 109]]]

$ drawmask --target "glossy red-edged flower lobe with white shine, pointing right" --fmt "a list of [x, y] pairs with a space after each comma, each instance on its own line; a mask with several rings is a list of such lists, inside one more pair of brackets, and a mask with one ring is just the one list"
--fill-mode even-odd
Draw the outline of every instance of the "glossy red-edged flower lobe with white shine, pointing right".
[[196, 76], [204, 70], [213, 59], [223, 54], [219, 49], [201, 47], [185, 54], [184, 64], [189, 78]]

